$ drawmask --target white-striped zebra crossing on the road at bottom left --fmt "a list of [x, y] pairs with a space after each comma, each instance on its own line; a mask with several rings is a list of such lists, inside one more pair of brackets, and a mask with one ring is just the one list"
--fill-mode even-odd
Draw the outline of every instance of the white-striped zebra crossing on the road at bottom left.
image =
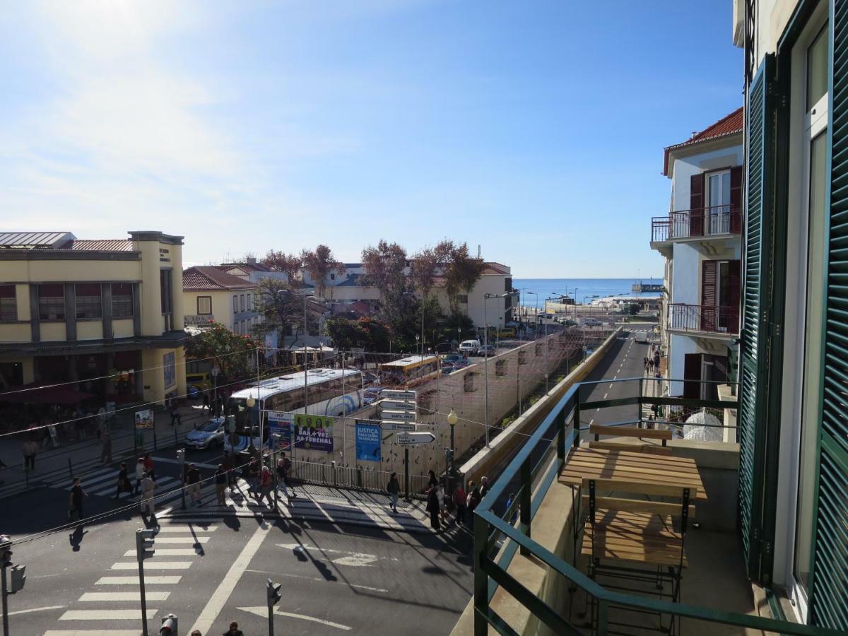
[[[153, 556], [144, 561], [148, 621], [170, 612], [166, 604], [172, 589], [203, 555], [204, 545], [217, 529], [215, 525], [196, 526], [179, 521], [162, 523]], [[159, 545], [175, 544], [192, 547], [159, 548]], [[174, 561], [174, 556], [194, 558]], [[95, 591], [82, 592], [80, 598], [59, 616], [59, 628], [49, 629], [42, 636], [139, 636], [141, 629], [135, 626], [142, 620], [142, 610], [136, 550], [127, 550], [123, 559], [113, 563], [109, 571], [95, 581]], [[128, 571], [133, 574], [121, 573]], [[83, 624], [88, 628], [82, 628]], [[92, 624], [103, 625], [103, 629], [91, 629]]]

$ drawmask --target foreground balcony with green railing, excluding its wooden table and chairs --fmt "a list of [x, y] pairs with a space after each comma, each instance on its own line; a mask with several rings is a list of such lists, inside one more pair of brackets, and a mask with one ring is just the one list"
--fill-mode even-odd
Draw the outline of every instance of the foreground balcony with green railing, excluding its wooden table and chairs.
[[[474, 598], [457, 623], [455, 635], [493, 630], [501, 634], [605, 635], [654, 629], [690, 636], [750, 633], [746, 630], [798, 636], [839, 633], [789, 622], [773, 605], [771, 611], [779, 617], [767, 617], [767, 603], [751, 588], [737, 538], [739, 444], [702, 441], [723, 436], [705, 435], [700, 430], [735, 425], [728, 424], [727, 416], [724, 423], [712, 424], [705, 416], [695, 424], [684, 424], [678, 417], [706, 409], [727, 413], [736, 408], [736, 402], [653, 397], [645, 390], [650, 382], [644, 378], [583, 382], [551, 404], [542, 425], [474, 511]], [[606, 399], [613, 384], [618, 387], [617, 394], [627, 397]], [[688, 566], [683, 593], [676, 601], [668, 600], [667, 594], [663, 598], [658, 578], [647, 583], [622, 579], [613, 585], [592, 573], [589, 558], [581, 555], [585, 537], [575, 533], [591, 514], [580, 507], [586, 495], [562, 479], [566, 470], [572, 470], [574, 450], [592, 448], [590, 421], [642, 426], [644, 413], [650, 412], [653, 404], [659, 407], [659, 416], [653, 422], [656, 431], [651, 432], [673, 432], [668, 442], [672, 453], [659, 455], [694, 460], [704, 493], [709, 495], [699, 501], [697, 526], [686, 533]], [[622, 409], [626, 406], [632, 410]], [[622, 417], [628, 421], [621, 421]], [[647, 437], [639, 442], [650, 444]], [[636, 442], [633, 438], [604, 441]], [[583, 460], [575, 462], [573, 470], [587, 466]], [[614, 466], [604, 468], [610, 474], [615, 470]], [[634, 472], [634, 479], [641, 477], [643, 471]], [[511, 505], [504, 505], [507, 493], [512, 493]], [[634, 505], [640, 503], [644, 502], [634, 500]], [[695, 514], [694, 508], [689, 514]], [[678, 527], [683, 520], [677, 517], [673, 523]], [[626, 556], [622, 559], [628, 561]], [[673, 628], [663, 627], [669, 621]]]

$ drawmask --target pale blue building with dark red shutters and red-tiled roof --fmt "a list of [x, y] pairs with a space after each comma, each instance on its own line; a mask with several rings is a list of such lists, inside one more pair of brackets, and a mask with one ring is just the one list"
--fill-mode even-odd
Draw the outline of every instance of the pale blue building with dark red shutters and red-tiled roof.
[[[665, 257], [661, 332], [672, 395], [714, 399], [735, 380], [742, 250], [742, 109], [665, 149], [668, 215], [651, 220]], [[686, 382], [688, 381], [688, 382]]]

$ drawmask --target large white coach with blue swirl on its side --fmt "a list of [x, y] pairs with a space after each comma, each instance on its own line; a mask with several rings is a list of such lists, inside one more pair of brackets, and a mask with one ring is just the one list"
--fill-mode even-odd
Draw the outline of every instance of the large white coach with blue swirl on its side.
[[[227, 430], [224, 448], [240, 452], [253, 442], [259, 446], [259, 414], [263, 421], [261, 442], [268, 439], [269, 411], [309, 413], [341, 417], [362, 407], [362, 371], [356, 369], [310, 369], [271, 377], [232, 393], [226, 402]], [[305, 391], [304, 391], [305, 387]], [[304, 403], [305, 393], [305, 403]], [[254, 407], [248, 408], [248, 398]], [[231, 419], [232, 416], [232, 419]]]

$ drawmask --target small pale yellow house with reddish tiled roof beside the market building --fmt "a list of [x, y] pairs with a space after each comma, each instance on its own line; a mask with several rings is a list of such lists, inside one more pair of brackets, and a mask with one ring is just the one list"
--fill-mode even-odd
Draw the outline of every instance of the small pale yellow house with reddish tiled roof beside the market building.
[[257, 310], [257, 283], [250, 282], [249, 275], [234, 276], [220, 265], [197, 265], [183, 271], [182, 296], [186, 326], [216, 322], [234, 333], [250, 335], [262, 320]]

